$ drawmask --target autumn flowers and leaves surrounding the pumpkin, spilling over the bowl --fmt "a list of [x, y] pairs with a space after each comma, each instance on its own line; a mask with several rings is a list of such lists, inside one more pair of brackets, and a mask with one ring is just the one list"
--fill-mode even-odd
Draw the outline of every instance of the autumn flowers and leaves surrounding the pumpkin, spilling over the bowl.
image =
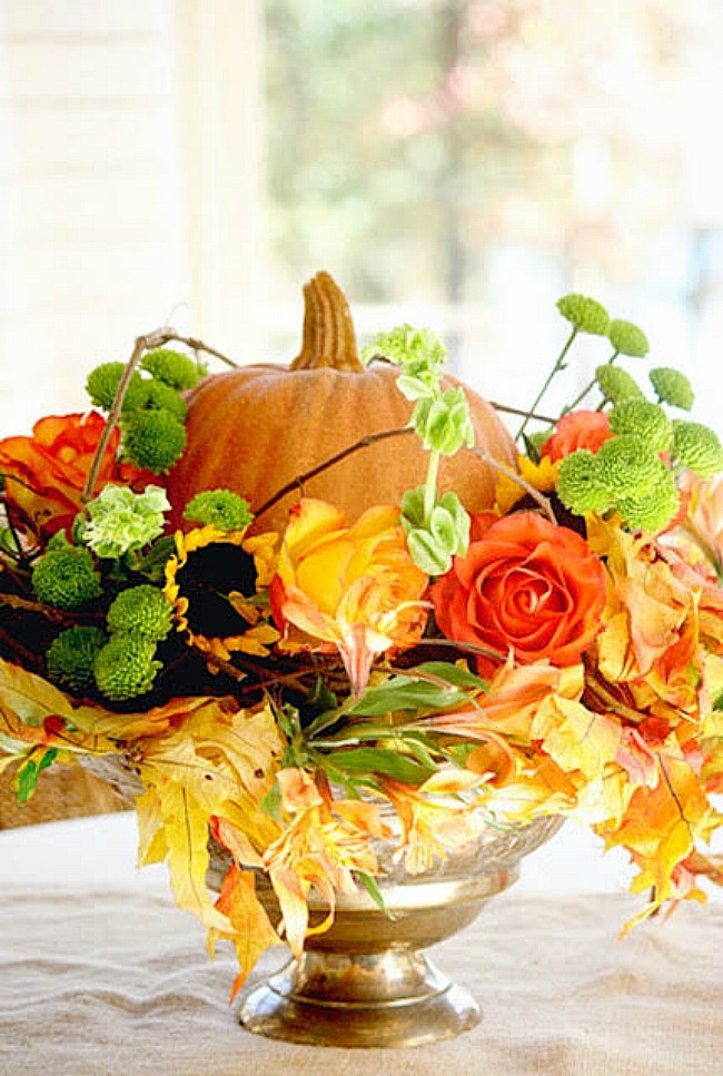
[[[652, 369], [646, 395], [617, 363], [647, 354], [636, 326], [581, 295], [558, 309], [570, 337], [517, 468], [493, 461], [494, 506], [472, 517], [437, 491], [440, 458], [474, 444], [465, 394], [409, 326], [366, 358], [398, 365], [427, 480], [356, 520], [301, 496], [270, 533], [210, 490], [168, 533], [164, 476], [211, 352], [170, 332], [97, 367], [90, 411], [0, 442], [0, 764], [27, 800], [51, 764], [122, 759], [139, 863], [167, 859], [209, 946], [231, 940], [236, 988], [280, 937], [298, 954], [337, 895], [383, 906], [389, 810], [412, 873], [481, 826], [582, 819], [636, 866], [636, 920], [722, 879], [723, 450], [684, 416], [681, 373]], [[584, 333], [613, 354], [542, 419]]]

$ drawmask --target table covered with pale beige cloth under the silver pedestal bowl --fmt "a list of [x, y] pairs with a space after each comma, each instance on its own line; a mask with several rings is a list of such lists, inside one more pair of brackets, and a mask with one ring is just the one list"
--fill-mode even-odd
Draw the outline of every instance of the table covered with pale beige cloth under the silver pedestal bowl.
[[[240, 1028], [227, 1004], [230, 947], [209, 960], [164, 870], [133, 871], [133, 839], [132, 816], [0, 833], [2, 1076], [723, 1070], [723, 904], [686, 904], [618, 942], [640, 904], [600, 873], [585, 876], [595, 891], [574, 891], [570, 877], [563, 888], [574, 836], [535, 853], [518, 887], [435, 950], [481, 1003], [482, 1024], [408, 1050], [297, 1046]], [[578, 889], [585, 877], [573, 878]], [[281, 949], [268, 954], [254, 981], [283, 959]]]

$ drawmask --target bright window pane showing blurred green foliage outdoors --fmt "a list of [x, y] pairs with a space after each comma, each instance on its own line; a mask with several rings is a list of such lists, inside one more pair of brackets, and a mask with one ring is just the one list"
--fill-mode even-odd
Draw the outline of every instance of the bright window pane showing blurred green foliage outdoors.
[[267, 0], [271, 298], [324, 267], [361, 307], [425, 304], [463, 372], [524, 352], [528, 378], [571, 289], [695, 348], [723, 269], [714, 8]]

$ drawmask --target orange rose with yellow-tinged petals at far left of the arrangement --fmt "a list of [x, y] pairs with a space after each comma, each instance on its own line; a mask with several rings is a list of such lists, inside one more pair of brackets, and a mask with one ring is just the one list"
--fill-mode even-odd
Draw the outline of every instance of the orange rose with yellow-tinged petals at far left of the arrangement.
[[[48, 535], [71, 526], [105, 426], [106, 419], [97, 412], [48, 415], [34, 424], [31, 437], [0, 441], [6, 501], [33, 532]], [[118, 463], [119, 436], [115, 430], [98, 473], [96, 493], [109, 482], [129, 484], [146, 477], [145, 472]]]

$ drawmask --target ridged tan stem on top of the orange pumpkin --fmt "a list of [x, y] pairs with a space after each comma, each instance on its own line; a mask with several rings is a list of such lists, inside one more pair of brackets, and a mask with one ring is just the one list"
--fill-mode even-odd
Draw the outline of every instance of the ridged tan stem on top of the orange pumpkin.
[[304, 286], [304, 338], [291, 369], [360, 373], [354, 322], [346, 296], [328, 273], [317, 273]]

